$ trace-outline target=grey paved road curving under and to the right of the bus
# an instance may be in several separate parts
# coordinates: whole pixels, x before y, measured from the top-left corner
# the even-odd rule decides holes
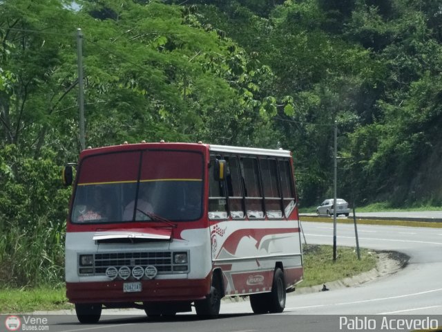
[[[332,244],[330,223],[303,222],[302,228],[307,243]],[[75,315],[50,316],[48,331],[339,331],[341,317],[348,315],[367,320],[389,317],[389,322],[391,317],[412,320],[414,315],[423,315],[417,316],[418,319],[439,315],[431,317],[436,317],[436,322],[442,326],[442,230],[359,225],[358,232],[361,246],[404,252],[410,256],[408,266],[395,275],[357,287],[311,294],[291,293],[287,297],[286,311],[280,315],[253,315],[249,302],[224,302],[217,320],[177,315],[174,320],[151,322],[142,311],[119,311],[119,315],[106,315],[104,311],[102,320],[94,326],[77,323]],[[354,246],[353,225],[338,223],[337,234],[338,246]],[[128,316],[123,317],[122,313]],[[374,331],[386,331],[379,329],[379,324]]]

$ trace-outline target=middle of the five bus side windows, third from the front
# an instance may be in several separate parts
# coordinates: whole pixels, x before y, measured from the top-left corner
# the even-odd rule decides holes
[[[264,218],[258,160],[242,158],[241,161],[244,170],[247,216],[251,219]]]

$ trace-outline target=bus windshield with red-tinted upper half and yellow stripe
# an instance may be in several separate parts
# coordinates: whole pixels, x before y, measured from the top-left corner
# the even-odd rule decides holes
[[[202,154],[147,150],[81,160],[73,223],[193,221],[202,216]]]

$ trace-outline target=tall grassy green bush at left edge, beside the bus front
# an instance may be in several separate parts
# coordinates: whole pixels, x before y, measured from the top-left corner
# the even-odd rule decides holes
[[[15,145],[0,151],[0,287],[60,283],[70,188],[55,154],[38,159]]]

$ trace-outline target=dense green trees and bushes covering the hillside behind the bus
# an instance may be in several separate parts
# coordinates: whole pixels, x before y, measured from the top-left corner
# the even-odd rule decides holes
[[[336,121],[339,196],[442,205],[440,1],[4,0],[0,284],[62,280],[77,28],[86,145],[290,149],[311,206],[332,195]]]

